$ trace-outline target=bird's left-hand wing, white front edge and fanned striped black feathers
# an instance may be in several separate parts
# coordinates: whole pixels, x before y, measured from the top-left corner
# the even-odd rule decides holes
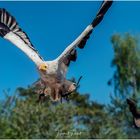
[[[27,34],[5,9],[0,9],[0,36],[21,49],[37,66],[42,63],[43,59],[33,47]]]

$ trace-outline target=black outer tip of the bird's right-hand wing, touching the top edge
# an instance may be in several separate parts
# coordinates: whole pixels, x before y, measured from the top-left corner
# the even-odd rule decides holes
[[[96,15],[96,18],[92,21],[91,25],[93,27],[97,26],[103,19],[105,13],[108,11],[108,9],[111,7],[113,1],[112,0],[105,0],[102,2],[102,5],[99,9],[99,12]]]

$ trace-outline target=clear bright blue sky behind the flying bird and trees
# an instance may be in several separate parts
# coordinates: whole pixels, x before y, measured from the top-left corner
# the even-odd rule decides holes
[[[101,1],[90,2],[0,2],[28,34],[35,48],[46,60],[56,58],[92,21]],[[140,2],[115,1],[96,27],[78,59],[72,63],[67,77],[78,79],[80,92],[91,99],[108,103],[113,89],[107,81],[113,75],[113,49],[110,38],[114,33],[140,32]],[[39,77],[36,67],[18,48],[0,39],[0,93],[19,86],[27,87]]]

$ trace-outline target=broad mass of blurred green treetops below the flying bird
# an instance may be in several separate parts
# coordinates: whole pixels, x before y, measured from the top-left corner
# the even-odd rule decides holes
[[[63,103],[48,98],[38,103],[37,98],[31,87],[6,98],[0,138],[97,138],[104,105],[90,101],[88,94],[73,93]]]

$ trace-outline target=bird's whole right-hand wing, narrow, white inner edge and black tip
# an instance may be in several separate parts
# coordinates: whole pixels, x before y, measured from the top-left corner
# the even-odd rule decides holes
[[[86,29],[80,34],[79,37],[75,41],[73,41],[57,58],[59,63],[61,64],[61,69],[63,69],[63,74],[65,75],[67,71],[67,67],[69,66],[71,61],[76,61],[77,52],[76,47],[83,49],[87,40],[89,39],[93,28],[95,28],[103,19],[105,13],[112,5],[112,1],[103,1],[102,5],[97,13],[95,19],[92,21],[90,25],[86,27]]]

